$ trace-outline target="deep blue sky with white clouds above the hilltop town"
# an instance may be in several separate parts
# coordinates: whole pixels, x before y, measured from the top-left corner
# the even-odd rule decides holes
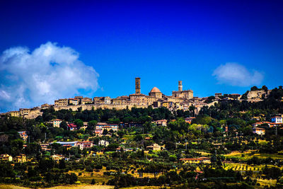
[[[0,52],[11,52],[0,58],[0,112],[39,105],[46,96],[50,103],[51,98],[76,94],[115,98],[134,93],[136,76],[141,77],[142,93],[156,86],[166,95],[178,89],[178,80],[194,96],[280,86],[282,8],[283,1],[0,1]],[[20,47],[30,50],[21,56],[36,64],[24,61],[18,67],[23,57],[14,52]],[[87,84],[69,82],[61,91],[50,86],[46,93],[36,92],[30,71],[41,70],[44,60],[33,51],[48,48],[57,54],[45,67],[48,71],[39,74],[40,84],[51,73],[70,68],[88,71],[62,76],[60,84],[71,79]],[[59,52],[76,58],[71,64],[58,63]],[[45,85],[57,81],[48,79]],[[22,100],[11,105],[15,98]]]

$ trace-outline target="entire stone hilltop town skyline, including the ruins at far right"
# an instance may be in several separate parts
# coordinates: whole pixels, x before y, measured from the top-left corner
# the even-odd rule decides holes
[[[163,94],[156,86],[149,91],[149,95],[141,93],[141,79],[135,79],[135,93],[129,96],[118,96],[117,98],[110,98],[109,96],[103,97],[83,97],[75,96],[74,98],[62,98],[54,101],[54,104],[42,104],[40,107],[35,108],[20,108],[18,111],[10,111],[8,114],[16,117],[23,117],[34,119],[38,115],[42,115],[42,109],[53,107],[54,110],[96,110],[112,109],[122,110],[125,108],[147,108],[151,105],[153,108],[168,108],[168,110],[189,110],[194,107],[195,114],[198,114],[202,107],[214,105],[218,101],[250,101],[258,102],[263,101],[270,93],[266,88],[255,88],[254,90],[247,91],[243,95],[238,93],[223,94],[215,93],[214,96],[199,98],[193,96],[192,90],[183,90],[183,82],[178,81],[178,91],[172,91],[171,96]]]

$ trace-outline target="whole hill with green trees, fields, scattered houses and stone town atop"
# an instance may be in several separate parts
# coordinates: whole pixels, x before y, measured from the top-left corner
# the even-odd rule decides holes
[[[243,95],[154,87],[58,99],[0,117],[0,182],[172,188],[282,187],[283,88]],[[220,182],[219,182],[220,181]]]

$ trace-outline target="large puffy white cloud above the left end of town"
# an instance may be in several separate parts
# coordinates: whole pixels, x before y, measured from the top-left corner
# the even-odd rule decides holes
[[[0,56],[0,112],[54,103],[57,98],[93,93],[98,73],[70,47],[47,42],[30,52],[12,47]]]

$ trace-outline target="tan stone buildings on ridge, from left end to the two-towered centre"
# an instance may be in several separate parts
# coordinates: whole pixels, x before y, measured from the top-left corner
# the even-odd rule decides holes
[[[75,96],[74,98],[61,98],[54,101],[54,105],[42,104],[35,108],[21,108],[18,111],[11,111],[9,114],[15,117],[36,118],[42,115],[40,109],[54,108],[69,109],[71,106],[79,108],[79,106],[88,105],[96,108],[96,106],[103,105],[103,108],[126,108],[127,105],[138,105],[146,108],[151,105],[154,108],[165,107],[168,109],[183,109],[192,105],[189,101],[193,99],[193,91],[183,91],[182,81],[178,81],[178,91],[172,91],[172,96],[166,96],[157,88],[154,87],[149,91],[149,95],[141,93],[140,78],[135,79],[135,93],[129,96],[118,96],[117,98],[110,98],[109,96],[88,98],[83,96]],[[196,98],[194,101],[197,100]],[[112,105],[112,106],[111,106]],[[74,108],[76,110],[76,108]]]

